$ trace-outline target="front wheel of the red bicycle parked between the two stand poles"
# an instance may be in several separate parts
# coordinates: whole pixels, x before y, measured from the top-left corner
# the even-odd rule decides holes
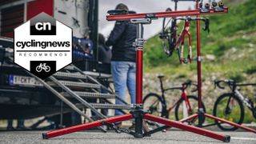
[[[181,98],[175,107],[175,118],[177,121],[181,120],[182,118],[189,117],[190,115],[198,112],[198,97],[194,95],[188,95],[187,98],[188,101],[190,102],[191,111],[188,112],[186,101],[184,98]],[[202,108],[203,111],[206,112],[206,106],[204,105],[204,103],[202,103]],[[204,121],[205,119],[203,119],[202,122]],[[198,125],[198,119],[196,119],[193,123],[194,125]]]

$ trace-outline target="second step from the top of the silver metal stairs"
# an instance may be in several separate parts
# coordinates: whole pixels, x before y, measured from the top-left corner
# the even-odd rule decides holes
[[[98,84],[91,84],[86,82],[70,82],[70,81],[58,81],[61,82],[65,86],[71,86],[71,87],[85,87],[85,88],[95,88],[100,89],[101,86]]]

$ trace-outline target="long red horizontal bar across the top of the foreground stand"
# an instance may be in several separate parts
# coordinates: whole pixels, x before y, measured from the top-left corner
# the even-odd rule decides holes
[[[200,10],[179,10],[179,11],[166,11],[158,13],[144,13],[144,14],[119,14],[119,15],[107,15],[106,20],[108,21],[126,21],[131,18],[148,18],[154,16],[154,18],[167,18],[167,17],[182,17],[182,16],[196,16],[206,14],[222,14],[227,13],[228,8],[225,8],[223,12],[214,12],[210,9],[210,13],[200,13]]]

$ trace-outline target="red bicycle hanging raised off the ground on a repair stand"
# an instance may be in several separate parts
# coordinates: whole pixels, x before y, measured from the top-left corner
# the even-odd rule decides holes
[[[172,11],[170,8],[167,8],[166,11]],[[177,35],[178,32],[178,25],[177,21],[182,20],[184,21],[184,26],[179,34]],[[166,22],[166,18],[163,18],[162,22],[162,32],[159,34],[159,38],[162,39],[162,46],[163,50],[165,51],[166,55],[170,57],[174,50],[177,50],[178,52],[178,58],[181,63],[188,63],[192,62],[192,46],[191,46],[191,34],[190,34],[190,22],[191,21],[203,21],[205,22],[205,27],[203,30],[210,32],[210,20],[209,18],[191,18],[191,17],[186,17],[186,18],[170,18]],[[169,26],[169,23],[171,22],[171,26]],[[189,50],[188,50],[188,55],[187,58],[183,58],[183,53],[184,53],[184,42],[186,35],[188,36],[188,43],[189,43]],[[181,50],[179,50],[178,47],[181,46]]]

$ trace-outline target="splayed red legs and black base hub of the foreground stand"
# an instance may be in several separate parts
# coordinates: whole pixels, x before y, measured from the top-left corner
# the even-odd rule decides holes
[[[181,122],[175,122],[175,121],[168,120],[166,118],[156,117],[151,114],[145,114],[142,110],[139,110],[139,109],[138,109],[138,111],[134,110],[131,113],[133,113],[133,114],[125,114],[125,115],[121,115],[121,116],[114,117],[114,118],[106,118],[106,119],[102,119],[102,120],[99,120],[96,122],[90,122],[90,123],[86,123],[86,124],[82,124],[82,125],[78,125],[78,126],[71,126],[71,127],[60,129],[60,130],[50,131],[46,134],[42,134],[42,137],[44,139],[54,138],[54,137],[58,137],[58,136],[64,135],[64,134],[70,134],[70,133],[74,133],[77,131],[88,130],[90,128],[102,126],[104,124],[104,122],[106,122],[106,123],[122,122],[122,121],[130,120],[135,117],[135,122],[138,122],[138,124],[139,123],[142,124],[142,118],[146,118],[147,120],[150,120],[150,121],[159,122],[166,126],[176,127],[178,129],[193,132],[195,134],[201,134],[206,137],[218,139],[222,142],[230,142],[230,136],[224,136],[222,134],[214,133],[210,130],[204,130],[204,129],[201,129],[201,128],[198,128],[195,126],[183,124]],[[137,116],[135,116],[135,115],[137,115]],[[137,120],[136,120],[136,118],[137,118]],[[137,126],[137,128],[135,127],[135,132],[129,132],[130,134],[134,135],[135,138],[142,138],[143,136],[146,136],[148,134],[153,134],[151,132],[148,132],[148,134],[147,133],[142,134],[142,125],[139,126],[139,125],[135,124],[135,126]],[[120,131],[124,132],[122,130],[120,130]],[[159,130],[159,131],[161,131],[161,130]],[[155,132],[158,132],[158,131],[155,131]],[[126,132],[126,133],[128,134],[128,132]]]

